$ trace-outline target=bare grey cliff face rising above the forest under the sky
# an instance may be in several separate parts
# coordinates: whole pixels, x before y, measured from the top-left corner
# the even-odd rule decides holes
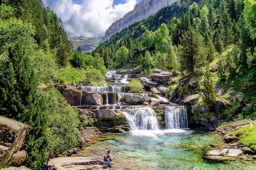
[[[124,18],[117,20],[108,28],[100,44],[108,40],[115,33],[128,27],[130,24],[148,18],[150,15],[155,14],[163,7],[171,5],[176,1],[177,0],[141,0],[139,4],[135,5],[132,11],[124,15]]]

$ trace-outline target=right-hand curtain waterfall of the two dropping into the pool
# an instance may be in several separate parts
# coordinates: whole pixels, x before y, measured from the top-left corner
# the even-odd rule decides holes
[[[165,124],[168,129],[188,128],[186,107],[168,106],[164,108]]]

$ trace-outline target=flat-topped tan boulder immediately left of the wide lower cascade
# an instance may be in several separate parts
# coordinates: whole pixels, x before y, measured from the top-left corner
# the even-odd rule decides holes
[[[120,113],[115,112],[115,110],[111,109],[103,109],[103,110],[92,110],[95,113],[96,117],[101,120],[115,120],[119,119],[121,116]]]

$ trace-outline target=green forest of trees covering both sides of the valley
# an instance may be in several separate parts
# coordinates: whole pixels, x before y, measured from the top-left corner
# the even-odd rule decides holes
[[[55,83],[102,84],[107,68],[143,67],[144,76],[154,68],[174,69],[193,76],[206,67],[204,102],[211,103],[215,96],[207,65],[213,60],[218,59],[223,84],[236,83],[241,69],[255,72],[254,0],[198,0],[184,8],[182,1],[130,25],[90,54],[73,51],[63,22],[41,0],[0,1],[0,115],[32,127],[24,145],[27,167],[39,170],[46,152],[79,142],[78,110],[67,105]],[[255,117],[254,95],[250,102],[245,113]]]

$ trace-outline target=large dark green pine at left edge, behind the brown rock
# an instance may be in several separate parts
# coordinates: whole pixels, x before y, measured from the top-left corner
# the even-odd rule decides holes
[[[47,121],[24,40],[19,39],[15,48],[9,49],[7,60],[1,63],[0,75],[0,115],[31,126],[26,163],[32,169],[40,170],[45,161]]]

